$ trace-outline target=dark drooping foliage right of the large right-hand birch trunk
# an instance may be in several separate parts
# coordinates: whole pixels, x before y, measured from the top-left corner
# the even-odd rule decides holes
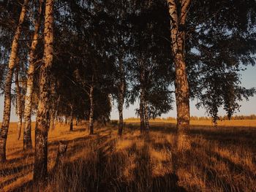
[[[255,1],[193,1],[187,26],[190,95],[214,123],[222,107],[230,118],[238,101],[255,94],[239,72],[255,65]]]

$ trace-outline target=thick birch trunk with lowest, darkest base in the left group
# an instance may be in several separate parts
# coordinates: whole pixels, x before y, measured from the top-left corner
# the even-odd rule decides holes
[[[40,68],[40,93],[35,130],[34,180],[47,176],[50,68],[53,63],[53,0],[45,2],[44,57]]]

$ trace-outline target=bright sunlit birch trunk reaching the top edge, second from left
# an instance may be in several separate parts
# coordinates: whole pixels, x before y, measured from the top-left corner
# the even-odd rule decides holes
[[[32,148],[31,139],[31,108],[32,108],[32,96],[34,92],[34,58],[35,51],[37,48],[39,28],[42,17],[42,4],[43,0],[39,1],[39,8],[37,14],[37,20],[34,21],[34,35],[31,42],[30,53],[29,53],[29,70],[28,80],[26,83],[26,98],[25,98],[25,110],[24,110],[24,130],[23,130],[23,150],[29,150]]]

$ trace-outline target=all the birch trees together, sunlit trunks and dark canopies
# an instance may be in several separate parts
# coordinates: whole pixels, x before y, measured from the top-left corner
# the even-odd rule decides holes
[[[254,0],[0,5],[0,161],[6,160],[12,102],[18,138],[24,119],[24,150],[32,148],[31,115],[37,115],[36,180],[47,174],[48,130],[58,118],[69,118],[71,131],[74,118],[89,120],[94,134],[94,121],[109,120],[114,100],[121,135],[124,107],[139,101],[140,130],[146,133],[149,118],[172,110],[175,93],[178,137],[188,138],[189,99],[197,99],[216,122],[220,107],[230,118],[238,101],[255,93],[239,81],[239,71],[255,65]]]

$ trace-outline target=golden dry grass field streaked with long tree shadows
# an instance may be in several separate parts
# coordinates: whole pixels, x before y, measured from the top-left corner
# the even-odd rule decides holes
[[[198,121],[192,122],[192,147],[182,153],[173,147],[170,121],[151,121],[148,137],[140,135],[138,122],[126,122],[121,138],[113,124],[95,128],[93,136],[84,124],[72,132],[59,124],[49,131],[49,176],[41,185],[32,182],[33,151],[23,152],[11,123],[0,191],[256,191],[256,120],[218,128]],[[68,142],[67,153],[53,172],[59,141]]]

